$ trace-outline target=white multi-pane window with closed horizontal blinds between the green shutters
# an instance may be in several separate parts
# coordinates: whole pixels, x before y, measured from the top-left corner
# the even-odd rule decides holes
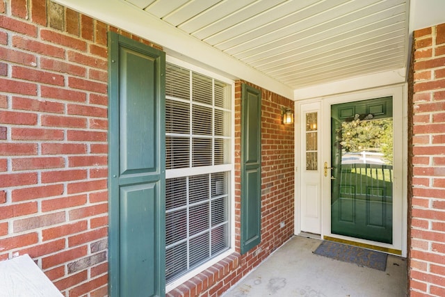
[[[165,67],[168,284],[232,245],[232,88],[208,73]]]

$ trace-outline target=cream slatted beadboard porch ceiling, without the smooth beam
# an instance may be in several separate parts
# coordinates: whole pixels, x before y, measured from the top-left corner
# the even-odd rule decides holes
[[[406,67],[409,0],[124,0],[292,89]]]

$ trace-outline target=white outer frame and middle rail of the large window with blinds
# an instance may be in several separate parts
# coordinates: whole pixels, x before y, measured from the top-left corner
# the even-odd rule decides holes
[[[182,275],[180,278],[177,278],[176,280],[173,280],[172,282],[166,284],[165,286],[165,292],[168,293],[172,289],[175,289],[180,284],[183,284],[187,280],[193,278],[193,276],[197,275],[198,273],[201,273],[202,271],[206,270],[210,266],[213,266],[220,260],[224,259],[225,257],[231,255],[235,251],[235,166],[234,166],[234,160],[235,160],[235,82],[232,79],[227,79],[226,77],[223,77],[219,74],[216,74],[214,72],[211,72],[209,70],[205,70],[201,67],[197,67],[196,65],[193,65],[191,63],[187,63],[185,61],[181,61],[178,58],[175,58],[173,56],[167,55],[165,57],[165,61],[167,63],[171,63],[174,65],[177,65],[179,67],[184,67],[187,70],[191,70],[193,72],[196,72],[198,74],[203,74],[207,77],[211,77],[212,79],[216,79],[218,81],[223,81],[224,83],[227,83],[231,86],[230,90],[230,111],[232,113],[231,122],[230,122],[230,133],[231,133],[231,142],[230,142],[230,152],[229,152],[229,163],[218,165],[218,166],[200,166],[195,168],[177,168],[177,169],[168,169],[165,170],[165,179],[171,179],[175,177],[186,177],[186,176],[192,176],[192,175],[202,175],[202,174],[209,174],[213,172],[229,172],[229,249],[225,252],[221,253],[217,257],[214,257],[212,259],[209,259],[209,261],[205,262],[204,264],[197,266],[196,268],[191,269],[191,271],[188,271],[184,275]],[[184,174],[186,172],[186,174]]]

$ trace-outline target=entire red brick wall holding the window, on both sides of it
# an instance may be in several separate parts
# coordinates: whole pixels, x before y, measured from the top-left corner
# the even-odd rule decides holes
[[[28,253],[65,296],[106,296],[107,32],[161,47],[45,0],[0,0],[0,27],[0,260]],[[294,134],[280,119],[293,102],[262,95],[261,244],[237,253],[237,82],[237,252],[174,296],[219,296],[293,234]]]

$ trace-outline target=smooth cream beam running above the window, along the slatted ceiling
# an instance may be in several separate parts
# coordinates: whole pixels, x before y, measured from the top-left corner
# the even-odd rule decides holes
[[[293,99],[293,89],[121,0],[54,0],[84,15],[161,45],[167,54],[229,79],[243,79]],[[172,3],[177,1],[172,1]]]

